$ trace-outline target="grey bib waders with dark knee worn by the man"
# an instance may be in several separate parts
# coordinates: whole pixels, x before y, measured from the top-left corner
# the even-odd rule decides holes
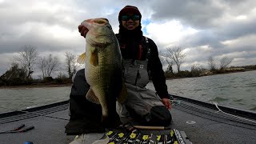
[[[170,111],[154,90],[145,87],[149,82],[147,62],[122,60],[128,98],[123,104],[118,104],[118,114],[120,117],[130,115],[143,125],[167,126],[171,121]]]

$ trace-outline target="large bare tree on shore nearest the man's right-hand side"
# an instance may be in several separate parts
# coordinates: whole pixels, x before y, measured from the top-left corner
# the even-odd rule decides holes
[[[177,66],[178,72],[180,72],[180,67],[182,66],[182,63],[186,58],[186,54],[182,52],[182,48],[178,46],[175,46],[173,48],[167,48],[166,57],[174,61]]]

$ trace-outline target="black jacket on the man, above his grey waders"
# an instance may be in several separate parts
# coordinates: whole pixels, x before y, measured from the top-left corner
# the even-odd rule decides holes
[[[148,59],[148,70],[154,88],[160,98],[168,98],[166,78],[162,70],[162,63],[158,57],[158,47],[150,38],[142,35],[141,25],[135,30],[126,30],[122,24],[119,26],[119,34],[116,34],[124,59],[146,60]],[[150,52],[148,53],[148,50]]]

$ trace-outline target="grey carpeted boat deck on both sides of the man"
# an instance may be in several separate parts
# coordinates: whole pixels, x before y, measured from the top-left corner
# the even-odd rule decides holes
[[[176,97],[177,98],[177,97]],[[209,105],[209,106],[207,106]],[[248,111],[234,110],[238,114],[246,114],[242,119],[217,112],[217,108],[209,103],[182,99],[174,105],[171,114],[171,129],[184,131],[193,143],[256,143],[256,114]],[[210,107],[212,106],[212,107]],[[219,106],[225,110],[225,107]],[[74,136],[64,133],[68,122],[68,102],[59,102],[27,110],[0,114],[0,131],[11,130],[21,124],[34,126],[33,130],[23,133],[0,134],[0,143],[62,144],[73,141]],[[232,111],[231,111],[232,112]],[[248,120],[247,120],[248,119]]]

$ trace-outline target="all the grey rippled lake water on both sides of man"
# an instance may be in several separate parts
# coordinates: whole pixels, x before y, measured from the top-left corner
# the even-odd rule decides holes
[[[256,111],[256,71],[167,80],[170,94]],[[154,90],[150,82],[147,86]],[[0,113],[69,99],[70,86],[0,89]]]

